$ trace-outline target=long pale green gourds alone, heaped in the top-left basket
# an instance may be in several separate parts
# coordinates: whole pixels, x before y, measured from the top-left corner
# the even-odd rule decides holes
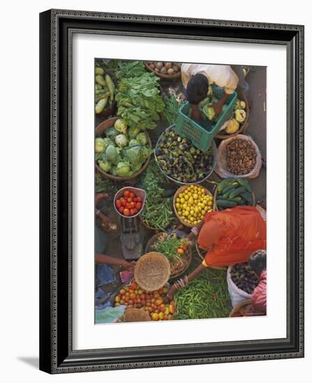
[[[115,100],[115,84],[100,67],[95,67],[95,113],[100,114]]]

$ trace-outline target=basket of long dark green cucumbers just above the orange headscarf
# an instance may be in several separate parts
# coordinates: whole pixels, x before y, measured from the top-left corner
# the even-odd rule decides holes
[[[255,195],[246,178],[226,178],[214,190],[214,210],[221,211],[235,206],[255,204]]]

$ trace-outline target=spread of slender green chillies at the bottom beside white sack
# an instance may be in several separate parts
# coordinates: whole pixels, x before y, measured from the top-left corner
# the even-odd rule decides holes
[[[226,272],[208,271],[174,295],[175,319],[225,318],[230,313]]]

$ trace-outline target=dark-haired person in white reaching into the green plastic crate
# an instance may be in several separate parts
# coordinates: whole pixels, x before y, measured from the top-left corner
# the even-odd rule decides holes
[[[239,81],[230,65],[182,64],[181,77],[187,100],[192,107],[192,118],[197,123],[201,121],[198,103],[207,97],[209,85],[216,84],[224,88],[224,95],[213,105],[214,118],[217,118],[224,102],[235,91]]]

